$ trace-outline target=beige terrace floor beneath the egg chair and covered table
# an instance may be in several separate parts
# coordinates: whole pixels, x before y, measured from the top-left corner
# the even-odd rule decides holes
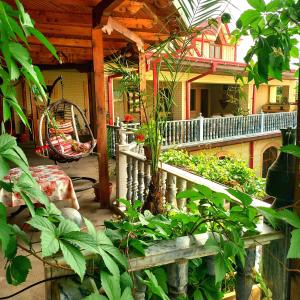
[[[42,165],[42,164],[53,164],[52,161],[40,158],[37,155],[35,155],[33,148],[31,145],[26,145],[23,147],[24,151],[29,159],[30,165]],[[114,161],[111,161],[110,163],[111,168],[114,167]],[[70,164],[61,164],[61,168],[69,175],[69,176],[88,176],[93,177],[98,180],[98,161],[96,156],[89,156],[86,158],[83,158],[79,160],[78,162],[73,162]],[[114,181],[114,180],[113,180]],[[115,194],[115,187],[113,184],[113,192],[112,192],[112,198]],[[84,216],[90,219],[95,226],[98,228],[101,228],[103,225],[103,221],[106,219],[110,219],[112,216],[112,213],[110,210],[103,210],[100,209],[99,203],[95,202],[95,196],[93,190],[88,190],[85,192],[81,192],[77,194],[78,201],[80,204],[80,213]],[[62,206],[68,206],[68,203],[59,203],[59,207]],[[9,212],[10,213],[10,212]],[[26,221],[26,218],[28,217],[28,212],[24,211],[14,219],[10,220],[10,222],[15,222],[19,225],[24,223]],[[32,236],[33,241],[39,241],[39,236],[37,233],[29,233]],[[36,245],[38,247],[38,244]],[[20,252],[21,254],[21,252]],[[23,254],[23,253],[22,253]],[[25,254],[26,255],[26,254]],[[22,284],[20,286],[14,287],[7,285],[6,279],[5,279],[5,272],[4,272],[4,265],[5,261],[1,257],[0,254],[0,298],[4,296],[11,295],[39,280],[44,279],[44,267],[43,263],[40,262],[37,259],[32,259],[32,270],[28,276],[28,280],[26,281],[26,284]],[[26,292],[19,294],[17,296],[14,296],[10,299],[13,300],[44,300],[45,299],[45,285],[40,284],[37,285]]]

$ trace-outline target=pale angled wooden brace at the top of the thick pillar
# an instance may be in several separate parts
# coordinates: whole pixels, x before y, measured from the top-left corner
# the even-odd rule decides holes
[[[140,52],[144,52],[143,40],[137,34],[124,27],[112,17],[108,17],[107,24],[102,27],[102,31],[107,33],[108,35],[111,35],[113,31],[117,31],[122,34],[124,38],[136,43],[137,48]]]

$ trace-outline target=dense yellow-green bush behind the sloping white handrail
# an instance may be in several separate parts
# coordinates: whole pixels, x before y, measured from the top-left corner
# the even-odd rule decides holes
[[[257,198],[265,196],[265,181],[258,177],[246,163],[237,158],[219,159],[208,154],[189,155],[180,150],[168,150],[161,154],[165,163],[184,168],[206,179],[231,186]]]

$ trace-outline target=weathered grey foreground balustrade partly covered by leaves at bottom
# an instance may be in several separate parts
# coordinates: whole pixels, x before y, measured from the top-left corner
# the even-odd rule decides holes
[[[281,239],[282,233],[272,230],[267,225],[259,228],[259,234],[244,238],[245,248],[253,248],[255,245],[267,245],[273,240]],[[194,236],[178,237],[175,240],[159,241],[145,250],[145,256],[132,257],[129,254],[129,266],[131,272],[140,275],[140,271],[157,266],[167,266],[167,276],[169,283],[170,299],[177,299],[178,296],[186,296],[188,282],[188,261],[195,258],[211,257],[216,254],[213,248],[205,247],[205,243],[209,238],[208,234],[197,234]],[[93,259],[90,253],[85,253],[86,257]],[[52,261],[50,261],[52,262]],[[65,265],[62,257],[56,258],[52,263]],[[58,270],[45,265],[46,278],[66,274],[65,270]],[[243,274],[244,271],[237,270],[237,276]],[[67,271],[67,273],[70,273]],[[67,289],[65,282],[48,282],[46,286],[46,294],[48,300],[58,300],[53,295],[57,295],[57,289]],[[146,287],[135,276],[136,284],[136,300],[145,299]],[[248,284],[249,286],[249,284]],[[251,291],[251,285],[249,286]],[[243,291],[237,289],[237,299],[242,298]],[[52,296],[51,296],[52,295]]]

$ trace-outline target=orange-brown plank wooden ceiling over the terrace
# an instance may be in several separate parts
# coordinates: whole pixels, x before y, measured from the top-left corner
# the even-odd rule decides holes
[[[7,2],[14,6],[14,0]],[[166,19],[177,15],[171,0],[22,0],[22,3],[35,26],[56,47],[64,64],[92,61],[92,28],[103,27],[109,17],[132,31],[147,48],[169,36],[172,28]],[[105,56],[133,43],[115,30],[103,38]],[[35,64],[58,64],[37,39],[30,37],[29,41]]]

